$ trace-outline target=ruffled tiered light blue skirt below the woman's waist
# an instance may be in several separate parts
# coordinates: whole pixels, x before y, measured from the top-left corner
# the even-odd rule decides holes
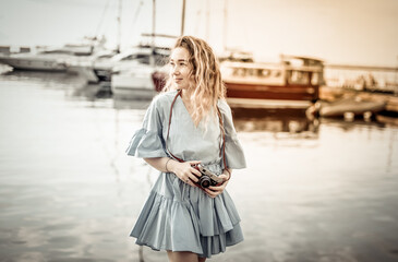
[[[161,172],[130,236],[157,251],[191,251],[210,258],[243,241],[239,223],[227,191],[212,199],[176,175]]]

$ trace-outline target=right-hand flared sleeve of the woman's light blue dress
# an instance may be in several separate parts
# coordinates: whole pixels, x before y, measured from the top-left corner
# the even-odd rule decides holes
[[[220,109],[224,129],[226,132],[226,163],[227,167],[232,169],[241,169],[246,167],[246,159],[244,157],[243,148],[238,140],[237,131],[233,127],[231,108],[226,100],[218,102]]]

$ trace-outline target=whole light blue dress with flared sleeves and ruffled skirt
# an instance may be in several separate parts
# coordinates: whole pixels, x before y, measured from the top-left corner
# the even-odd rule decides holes
[[[170,106],[177,92],[157,95],[146,111],[143,127],[131,139],[129,155],[170,157],[165,148]],[[246,166],[232,122],[231,109],[218,102],[226,132],[226,163],[229,168]],[[206,126],[206,127],[205,127]],[[184,160],[202,160],[216,175],[224,169],[219,121],[201,121],[196,128],[179,96],[172,108],[168,150]],[[233,178],[233,177],[232,177]],[[243,240],[240,217],[225,190],[215,199],[181,181],[172,172],[160,172],[130,236],[154,250],[191,251],[200,257],[224,252]]]

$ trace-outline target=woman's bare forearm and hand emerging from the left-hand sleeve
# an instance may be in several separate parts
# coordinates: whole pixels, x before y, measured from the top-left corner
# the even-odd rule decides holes
[[[176,174],[179,179],[192,187],[196,187],[192,181],[197,182],[197,177],[202,176],[198,170],[192,167],[192,165],[200,164],[201,162],[180,163],[169,157],[144,158],[144,160],[159,171]]]

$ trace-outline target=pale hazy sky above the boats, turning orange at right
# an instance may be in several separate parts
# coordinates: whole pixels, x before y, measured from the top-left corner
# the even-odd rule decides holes
[[[121,3],[125,48],[152,33],[153,0]],[[116,46],[118,7],[118,0],[0,0],[0,45],[63,45],[104,34]],[[156,0],[156,33],[180,35],[181,13],[182,0]],[[397,67],[397,0],[186,0],[184,34],[217,52],[251,51],[258,61],[288,53]]]

